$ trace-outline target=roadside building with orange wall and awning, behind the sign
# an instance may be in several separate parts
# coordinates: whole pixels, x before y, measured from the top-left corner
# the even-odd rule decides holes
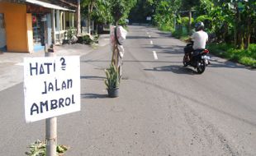
[[[0,1],[0,51],[37,52],[45,44],[62,44],[68,38],[68,31],[75,32],[75,4],[53,2]]]

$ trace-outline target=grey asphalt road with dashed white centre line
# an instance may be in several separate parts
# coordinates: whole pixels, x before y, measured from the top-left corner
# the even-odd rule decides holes
[[[116,99],[103,82],[109,46],[81,57],[81,111],[58,117],[66,155],[256,155],[256,71],[212,57],[197,75],[183,67],[184,45],[130,26]],[[0,155],[24,155],[45,122],[26,124],[22,83],[0,99]]]

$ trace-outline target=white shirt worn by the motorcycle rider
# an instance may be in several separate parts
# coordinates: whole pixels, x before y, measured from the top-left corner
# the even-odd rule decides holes
[[[194,41],[193,49],[206,48],[206,41],[208,40],[208,34],[205,31],[199,30],[194,34],[192,34],[191,38]]]

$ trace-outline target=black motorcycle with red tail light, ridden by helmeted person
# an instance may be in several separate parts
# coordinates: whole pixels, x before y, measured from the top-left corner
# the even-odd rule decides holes
[[[206,66],[210,64],[210,57],[207,55],[209,53],[208,49],[197,49],[193,50],[191,44],[187,44],[184,48],[183,65],[187,67],[188,65],[197,69],[197,73],[201,74],[206,70]]]

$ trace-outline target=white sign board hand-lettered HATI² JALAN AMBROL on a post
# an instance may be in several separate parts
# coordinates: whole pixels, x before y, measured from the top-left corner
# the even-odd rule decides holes
[[[24,58],[24,94],[26,122],[79,111],[79,57]]]

